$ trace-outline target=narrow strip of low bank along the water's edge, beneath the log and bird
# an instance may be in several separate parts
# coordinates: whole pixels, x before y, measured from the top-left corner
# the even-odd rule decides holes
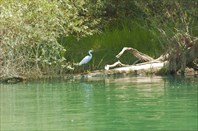
[[[43,76],[41,78],[26,78],[23,76],[13,76],[13,77],[5,77],[0,78],[0,83],[4,84],[16,84],[20,82],[28,82],[32,80],[53,80],[53,79],[62,79],[62,80],[79,80],[79,79],[104,79],[104,78],[115,78],[115,77],[154,77],[159,76],[156,74],[151,74],[148,72],[141,72],[137,74],[137,72],[115,72],[112,70],[95,70],[91,72],[84,72],[84,73],[74,73],[74,74],[64,74],[64,75],[56,75],[56,76]],[[165,75],[163,75],[165,76]],[[169,76],[169,75],[167,75]],[[173,75],[172,75],[173,76]],[[185,74],[181,75],[180,71],[177,72],[174,77],[198,77],[198,71],[194,69],[186,68]]]

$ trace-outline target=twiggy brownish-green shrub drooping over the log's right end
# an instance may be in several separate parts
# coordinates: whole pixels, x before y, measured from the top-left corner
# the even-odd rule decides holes
[[[198,1],[184,0],[149,0],[141,1],[137,5],[144,10],[149,26],[161,34],[160,42],[165,43],[169,53],[169,72],[176,73],[181,67],[184,73],[186,68],[187,52],[198,44],[197,12]]]

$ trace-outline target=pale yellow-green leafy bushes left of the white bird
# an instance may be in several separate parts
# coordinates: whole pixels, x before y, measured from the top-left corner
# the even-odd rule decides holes
[[[48,68],[51,65],[60,70],[65,49],[57,39],[97,32],[95,26],[99,20],[91,16],[85,2],[0,1],[0,75],[38,76],[51,72]],[[85,15],[80,14],[82,10]]]

